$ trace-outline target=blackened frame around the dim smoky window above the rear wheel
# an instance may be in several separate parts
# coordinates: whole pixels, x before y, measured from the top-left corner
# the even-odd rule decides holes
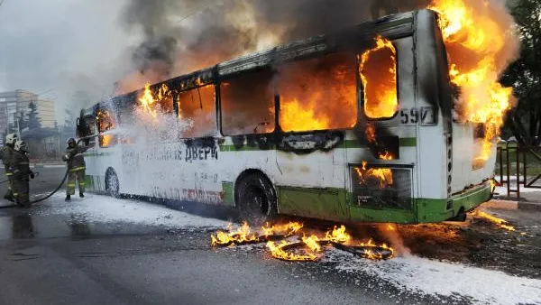
[[[250,75],[250,73],[252,72],[259,72],[259,71],[269,71],[271,73],[271,83],[270,85],[272,86],[273,88],[273,95],[272,95],[272,107],[274,108],[274,117],[273,117],[273,120],[272,120],[272,124],[274,124],[274,129],[270,132],[270,133],[246,133],[246,134],[225,134],[224,133],[224,113],[223,113],[223,110],[224,108],[222,107],[222,84],[226,81],[229,81],[229,80],[232,80],[232,79],[236,79],[236,78],[241,78],[245,75]],[[257,136],[257,135],[270,135],[270,134],[276,134],[276,133],[283,133],[281,131],[281,128],[279,127],[280,125],[278,124],[279,123],[279,118],[278,116],[280,116],[280,107],[277,107],[277,105],[280,105],[280,102],[277,101],[277,93],[276,93],[276,88],[275,86],[273,86],[272,84],[272,80],[274,79],[274,77],[276,76],[276,70],[275,69],[272,69],[271,66],[266,66],[266,67],[263,67],[263,68],[260,68],[260,69],[250,69],[250,70],[247,70],[247,71],[243,71],[243,72],[240,72],[240,73],[236,73],[236,74],[233,74],[233,75],[227,75],[225,76],[224,78],[221,78],[219,79],[218,81],[215,82],[215,87],[216,87],[216,95],[215,95],[215,99],[216,99],[216,106],[219,108],[219,111],[216,111],[216,115],[218,116],[218,120],[216,120],[217,122],[217,125],[218,125],[218,132],[220,134],[221,137],[235,137],[235,136],[242,136],[242,135],[252,135],[252,136]],[[279,97],[280,98],[280,97]],[[257,125],[257,127],[259,127],[260,125]],[[256,128],[257,128],[256,127]]]

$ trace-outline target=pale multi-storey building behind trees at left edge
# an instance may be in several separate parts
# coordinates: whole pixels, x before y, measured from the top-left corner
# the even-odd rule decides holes
[[[54,102],[40,99],[27,90],[0,92],[0,134],[18,131],[17,118],[28,118],[30,103],[37,106],[38,119],[42,128],[54,128]]]

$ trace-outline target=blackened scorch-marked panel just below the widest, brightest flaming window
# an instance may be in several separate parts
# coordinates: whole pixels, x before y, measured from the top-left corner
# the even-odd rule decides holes
[[[342,143],[344,143],[344,132],[340,131],[284,134],[278,143],[278,149],[298,154],[328,152]]]

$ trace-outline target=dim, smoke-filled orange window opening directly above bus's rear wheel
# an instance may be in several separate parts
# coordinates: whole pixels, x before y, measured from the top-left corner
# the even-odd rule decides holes
[[[220,84],[222,133],[268,134],[274,131],[271,70],[247,73]]]

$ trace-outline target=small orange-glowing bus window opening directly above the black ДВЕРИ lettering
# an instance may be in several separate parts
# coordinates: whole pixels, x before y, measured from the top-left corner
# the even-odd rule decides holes
[[[215,86],[207,85],[180,92],[177,96],[179,119],[191,125],[182,131],[183,137],[195,138],[214,135],[216,131]]]

